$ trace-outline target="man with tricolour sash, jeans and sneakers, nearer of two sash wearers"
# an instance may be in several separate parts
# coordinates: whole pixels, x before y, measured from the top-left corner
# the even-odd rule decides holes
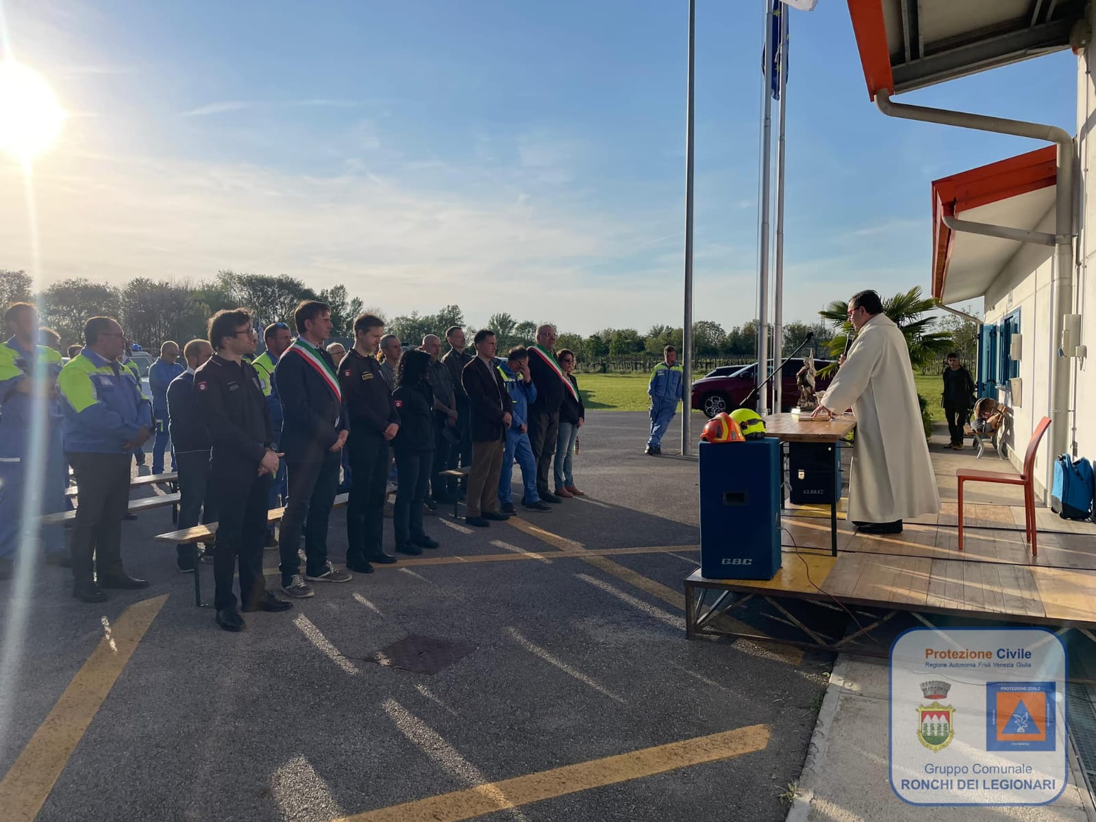
[[[350,436],[342,388],[323,342],[331,334],[331,309],[301,300],[294,312],[299,336],[277,361],[274,380],[285,416],[282,450],[289,466],[289,501],[282,517],[278,549],[282,590],[289,596],[312,596],[300,576],[300,536],[305,534],[305,579],[350,582],[328,560],[328,520],[339,488],[342,449]]]

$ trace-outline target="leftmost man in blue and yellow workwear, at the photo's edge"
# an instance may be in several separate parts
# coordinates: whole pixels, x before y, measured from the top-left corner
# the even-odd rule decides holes
[[[0,580],[12,575],[19,548],[23,502],[31,481],[31,420],[38,398],[45,392],[47,418],[42,502],[33,515],[65,510],[65,481],[68,467],[60,442],[60,408],[54,388],[60,373],[61,356],[46,345],[37,345],[38,312],[30,302],[15,302],[4,311],[4,327],[11,338],[0,344]],[[36,373],[36,369],[37,373]],[[46,556],[61,562],[64,535],[47,528]]]

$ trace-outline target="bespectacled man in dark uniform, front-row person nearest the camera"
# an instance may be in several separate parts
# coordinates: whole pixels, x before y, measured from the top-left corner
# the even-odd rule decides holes
[[[237,562],[244,610],[293,607],[269,593],[263,581],[266,500],[282,455],[273,448],[274,425],[259,374],[243,359],[259,344],[251,315],[242,308],[218,311],[209,319],[209,340],[217,353],[195,372],[194,396],[213,442],[209,476],[220,516],[214,606],[217,625],[239,631],[243,619],[232,593]]]

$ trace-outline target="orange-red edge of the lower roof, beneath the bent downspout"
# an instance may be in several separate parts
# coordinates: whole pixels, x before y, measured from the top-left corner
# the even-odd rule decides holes
[[[857,0],[849,0],[849,7]],[[944,225],[945,216],[998,203],[1038,191],[1058,182],[1058,147],[1028,151],[1006,160],[961,171],[934,180],[933,195],[933,297],[944,296],[952,232]]]

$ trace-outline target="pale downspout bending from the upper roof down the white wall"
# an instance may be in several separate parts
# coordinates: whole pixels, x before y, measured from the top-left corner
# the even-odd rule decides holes
[[[1054,456],[1072,452],[1070,443],[1070,357],[1058,355],[1062,339],[1062,317],[1073,309],[1073,189],[1076,176],[1076,148],[1064,128],[1019,119],[991,117],[969,112],[952,112],[922,105],[892,103],[886,90],[876,92],[876,106],[888,117],[938,123],[979,132],[1030,137],[1058,145],[1057,190],[1054,198],[1054,272],[1051,281],[1054,345],[1050,369],[1050,452],[1046,465],[1044,489],[1050,493]]]

